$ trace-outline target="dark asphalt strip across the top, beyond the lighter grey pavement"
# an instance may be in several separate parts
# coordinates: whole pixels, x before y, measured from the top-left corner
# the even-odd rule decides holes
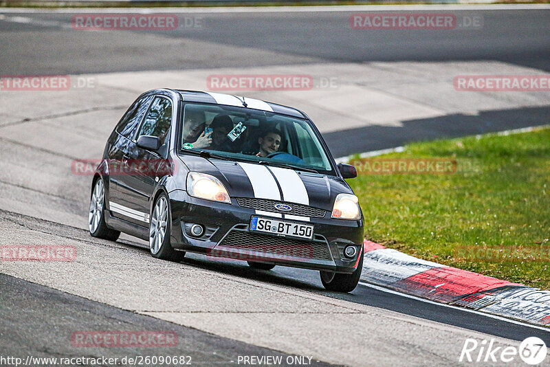
[[[430,11],[430,8],[417,9],[420,10],[416,12]],[[550,71],[550,40],[544,32],[550,26],[549,9],[485,10],[486,7],[473,6],[463,9],[470,10],[453,12],[457,19],[478,16],[483,27],[455,32],[368,32],[349,26],[349,16],[364,10],[300,12],[291,8],[283,12],[244,13],[161,10],[177,12],[179,29],[140,31],[145,36],[137,36],[135,32],[71,32],[71,16],[80,14],[78,11],[10,12],[5,17],[11,21],[0,23],[3,45],[0,65],[5,74],[83,74],[323,61],[499,60]],[[13,16],[20,18],[12,19]],[[30,44],[34,47],[28,47]]]

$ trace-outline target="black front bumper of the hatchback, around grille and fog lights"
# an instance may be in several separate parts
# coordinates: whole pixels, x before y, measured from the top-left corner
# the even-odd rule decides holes
[[[362,255],[363,221],[310,218],[314,224],[314,241],[283,236],[258,234],[248,230],[254,209],[232,203],[217,203],[190,197],[184,190],[168,194],[172,210],[170,240],[172,247],[212,257],[235,258],[306,269],[352,273]],[[284,219],[283,219],[284,220]],[[186,225],[197,223],[206,228],[205,234],[194,238],[186,233]],[[187,231],[188,232],[188,231]],[[345,258],[344,247],[354,245],[357,254]]]

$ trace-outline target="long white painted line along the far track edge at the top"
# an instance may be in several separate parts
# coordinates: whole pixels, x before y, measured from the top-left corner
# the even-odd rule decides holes
[[[273,13],[273,12],[388,12],[411,10],[550,10],[550,4],[418,4],[418,5],[318,5],[237,6],[212,8],[0,8],[4,13]]]

